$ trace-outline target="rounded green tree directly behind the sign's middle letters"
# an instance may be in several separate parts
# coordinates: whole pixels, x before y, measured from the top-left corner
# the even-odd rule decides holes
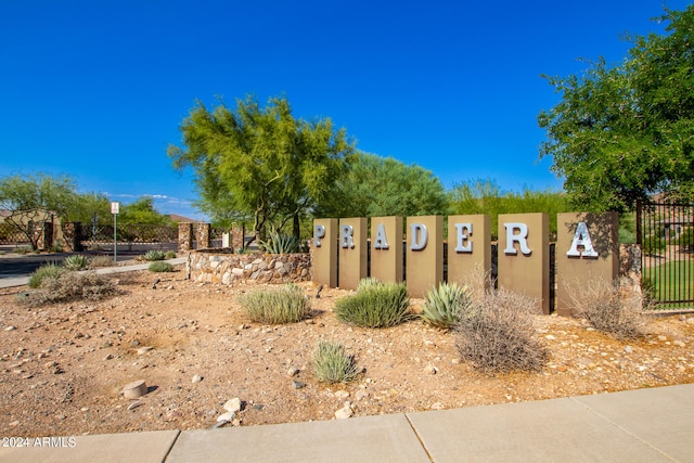
[[[358,153],[337,191],[320,205],[322,217],[424,216],[448,213],[439,179],[415,164]]]

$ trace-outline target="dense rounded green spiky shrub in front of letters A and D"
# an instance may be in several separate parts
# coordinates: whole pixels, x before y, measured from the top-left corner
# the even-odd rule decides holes
[[[361,282],[357,293],[335,303],[338,320],[365,327],[394,326],[412,317],[404,283]]]

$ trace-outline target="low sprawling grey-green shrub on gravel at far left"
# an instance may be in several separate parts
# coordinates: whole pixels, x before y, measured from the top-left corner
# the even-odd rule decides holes
[[[95,272],[63,271],[56,278],[46,278],[38,290],[23,295],[21,301],[29,306],[68,300],[100,300],[117,293],[111,280]]]

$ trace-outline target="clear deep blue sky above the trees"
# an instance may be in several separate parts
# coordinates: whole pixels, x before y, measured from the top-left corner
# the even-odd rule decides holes
[[[690,1],[667,1],[673,10]],[[166,155],[200,99],[285,94],[357,147],[445,187],[561,189],[538,160],[540,77],[618,63],[625,34],[663,31],[659,0],[0,0],[0,177],[72,177],[80,192],[198,218]]]

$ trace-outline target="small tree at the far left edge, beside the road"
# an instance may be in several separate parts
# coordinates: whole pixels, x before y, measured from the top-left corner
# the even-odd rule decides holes
[[[67,177],[10,176],[0,179],[0,209],[4,222],[22,233],[38,248],[37,227],[51,222],[53,217],[65,220],[77,200],[75,183]]]

